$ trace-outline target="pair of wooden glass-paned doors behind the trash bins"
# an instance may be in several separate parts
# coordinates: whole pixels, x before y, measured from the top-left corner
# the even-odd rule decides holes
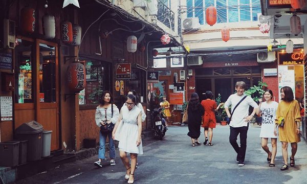
[[[18,38],[14,50],[15,128],[37,121],[52,130],[51,150],[59,149],[58,46],[40,39]]]

